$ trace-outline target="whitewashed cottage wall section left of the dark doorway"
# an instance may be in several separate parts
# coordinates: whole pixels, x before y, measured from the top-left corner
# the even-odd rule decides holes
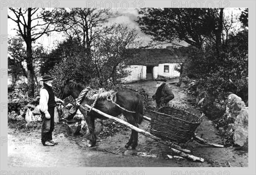
[[[125,82],[134,82],[140,79],[146,79],[146,66],[131,65],[127,70],[131,71],[130,75],[125,78]]]

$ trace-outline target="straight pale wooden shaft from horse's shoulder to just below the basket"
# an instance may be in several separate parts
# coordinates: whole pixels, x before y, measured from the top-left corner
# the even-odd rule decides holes
[[[90,107],[90,106],[87,105],[87,104],[84,104],[84,105],[85,105],[86,107],[88,107],[88,108],[94,110],[95,112],[101,114],[102,116],[105,116],[105,117],[107,117],[108,119],[112,119],[112,120],[114,120],[114,121],[116,121],[116,122],[119,122],[119,123],[121,123],[121,124],[124,124],[124,125],[130,127],[132,130],[135,130],[135,131],[137,131],[138,133],[141,133],[141,134],[143,134],[143,135],[145,135],[145,136],[147,136],[147,137],[149,137],[149,138],[152,138],[152,139],[154,139],[155,141],[158,141],[158,142],[161,143],[161,144],[165,144],[165,145],[167,145],[167,146],[172,146],[173,148],[175,148],[175,149],[177,149],[177,150],[180,150],[180,151],[183,151],[183,152],[187,152],[187,153],[191,152],[191,150],[183,149],[183,148],[181,148],[180,146],[178,146],[177,144],[174,144],[174,143],[172,143],[172,142],[170,142],[170,141],[164,141],[164,140],[162,140],[161,138],[158,138],[158,137],[152,135],[151,133],[149,133],[149,132],[147,132],[147,131],[145,131],[145,130],[142,130],[142,129],[138,128],[138,127],[135,127],[134,125],[129,124],[129,123],[126,122],[126,121],[123,121],[123,120],[118,119],[118,118],[116,118],[116,117],[110,116],[110,115],[108,115],[108,114],[106,114],[106,113],[103,113],[102,111],[97,110],[97,109],[95,109],[94,107]]]

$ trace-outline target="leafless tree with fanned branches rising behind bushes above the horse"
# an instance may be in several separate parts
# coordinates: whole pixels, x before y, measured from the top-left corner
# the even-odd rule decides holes
[[[76,37],[81,45],[87,49],[90,57],[92,43],[104,37],[111,30],[105,24],[115,14],[109,9],[71,8],[65,11],[69,23],[62,23],[69,37]]]

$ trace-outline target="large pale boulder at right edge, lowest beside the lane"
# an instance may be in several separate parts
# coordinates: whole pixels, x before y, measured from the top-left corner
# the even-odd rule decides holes
[[[239,112],[234,123],[233,141],[241,147],[248,146],[248,107]]]

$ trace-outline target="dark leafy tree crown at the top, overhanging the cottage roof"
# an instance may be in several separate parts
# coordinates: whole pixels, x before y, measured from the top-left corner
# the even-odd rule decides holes
[[[137,23],[154,41],[172,43],[178,39],[201,49],[209,37],[215,37],[221,30],[220,11],[218,8],[140,8],[138,12],[142,16]]]

